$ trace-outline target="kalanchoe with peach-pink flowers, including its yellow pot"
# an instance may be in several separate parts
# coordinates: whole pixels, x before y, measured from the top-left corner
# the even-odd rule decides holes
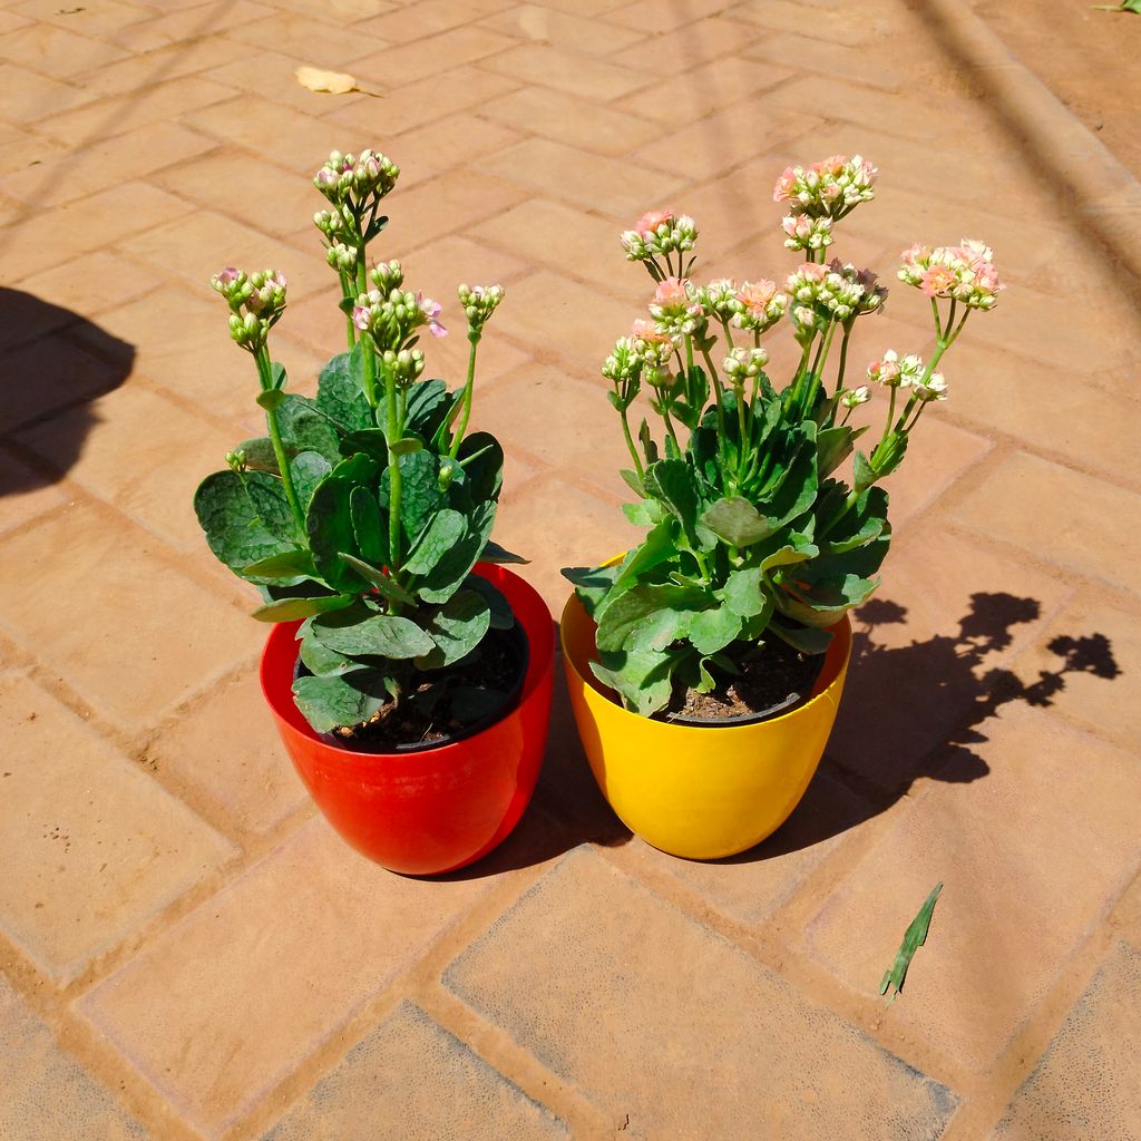
[[[790,211],[785,245],[807,260],[783,288],[694,282],[687,216],[647,213],[622,235],[656,292],[602,374],[638,496],[625,512],[648,531],[623,558],[565,572],[576,590],[563,639],[604,793],[678,855],[743,851],[803,794],[843,685],[847,612],[875,590],[888,552],[883,480],[947,395],[944,354],[1002,289],[979,242],[904,251],[898,276],[930,301],[934,351],[889,351],[853,378],[852,335],[887,290],[828,251],[875,177],[858,155],[785,170],[774,194]],[[800,348],[783,387],[762,345],[778,324]],[[883,411],[853,422],[873,388]],[[640,394],[656,431],[631,422]]]

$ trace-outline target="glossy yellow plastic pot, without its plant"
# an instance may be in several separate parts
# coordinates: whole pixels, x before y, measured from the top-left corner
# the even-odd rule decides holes
[[[800,803],[832,733],[851,654],[835,637],[811,697],[769,721],[688,726],[622,707],[590,670],[594,623],[572,594],[560,636],[578,735],[602,795],[632,832],[673,856],[718,859],[760,843]]]

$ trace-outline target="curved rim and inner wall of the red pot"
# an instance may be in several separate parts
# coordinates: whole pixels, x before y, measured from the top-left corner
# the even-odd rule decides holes
[[[543,602],[542,597],[539,592],[520,575],[517,575],[513,570],[509,570],[502,564],[496,563],[477,563],[474,573],[480,574],[484,577],[499,577],[501,581],[499,585],[507,588],[504,593],[509,594],[508,601],[511,605],[511,613],[515,615],[515,620],[519,623],[519,628],[523,631],[524,638],[526,639],[528,653],[527,653],[527,667],[523,677],[523,683],[519,688],[518,694],[510,705],[504,709],[500,717],[496,717],[494,721],[485,725],[483,728],[478,729],[476,733],[463,736],[456,741],[448,741],[439,745],[434,745],[427,748],[415,748],[415,750],[399,750],[394,752],[361,752],[355,748],[342,748],[340,745],[333,744],[326,741],[322,734],[318,734],[313,726],[305,719],[305,715],[297,707],[297,704],[292,699],[292,686],[286,681],[282,683],[276,674],[275,663],[270,662],[272,649],[275,649],[276,642],[282,642],[288,639],[290,644],[289,650],[289,674],[292,677],[293,663],[297,659],[297,639],[293,637],[301,625],[298,622],[278,622],[274,624],[274,628],[269,631],[269,636],[266,639],[266,645],[261,652],[261,659],[258,667],[258,678],[261,683],[261,694],[265,697],[266,704],[269,706],[270,712],[288,726],[293,733],[305,737],[307,741],[315,745],[321,746],[325,753],[335,758],[339,762],[346,766],[358,764],[366,769],[374,768],[378,762],[391,762],[399,760],[403,763],[415,764],[418,760],[423,759],[426,764],[438,764],[442,760],[446,761],[453,759],[460,761],[463,755],[470,753],[472,746],[478,747],[480,738],[486,734],[493,733],[497,726],[501,726],[504,721],[520,713],[521,707],[526,704],[532,694],[539,687],[543,671],[550,664],[551,658],[555,654],[555,631],[553,625],[550,621],[550,612],[547,608],[547,604]],[[526,606],[516,606],[515,600],[510,598],[511,593],[517,593],[520,596],[520,600],[525,601]],[[525,614],[525,610],[533,610],[535,613]],[[544,615],[545,621],[539,621],[539,615]],[[531,621],[528,621],[528,618]]]

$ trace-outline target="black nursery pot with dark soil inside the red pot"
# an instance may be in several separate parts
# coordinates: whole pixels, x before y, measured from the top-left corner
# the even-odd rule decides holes
[[[492,628],[464,658],[446,670],[416,673],[419,688],[402,703],[398,721],[387,702],[373,720],[317,736],[354,753],[421,753],[475,736],[504,718],[519,702],[531,649],[518,620],[509,630]],[[293,680],[309,670],[298,658]],[[397,737],[399,739],[394,739]],[[413,739],[408,739],[413,738]]]

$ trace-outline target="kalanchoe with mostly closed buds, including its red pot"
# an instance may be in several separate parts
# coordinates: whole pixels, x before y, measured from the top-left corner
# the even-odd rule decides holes
[[[269,354],[284,276],[221,270],[233,340],[253,358],[264,437],[227,455],[194,505],[215,555],[274,623],[262,688],[333,826],[396,871],[462,866],[499,843],[537,776],[550,707],[550,615],[491,539],[503,452],[470,430],[476,353],[503,297],[461,285],[466,382],[428,379],[440,306],[398,261],[369,265],[399,168],[334,152],[314,184],[347,351],[315,398]]]

